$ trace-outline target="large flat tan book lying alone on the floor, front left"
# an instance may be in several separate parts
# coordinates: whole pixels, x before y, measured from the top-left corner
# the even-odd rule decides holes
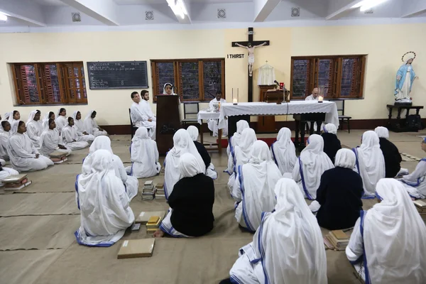
[[[124,241],[120,247],[118,259],[153,256],[155,239],[137,239]]]

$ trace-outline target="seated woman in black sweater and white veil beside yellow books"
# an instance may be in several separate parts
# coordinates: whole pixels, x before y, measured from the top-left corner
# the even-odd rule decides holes
[[[168,197],[170,209],[155,231],[175,237],[202,236],[213,229],[214,183],[204,175],[204,167],[191,153],[180,156],[178,170],[181,179]]]

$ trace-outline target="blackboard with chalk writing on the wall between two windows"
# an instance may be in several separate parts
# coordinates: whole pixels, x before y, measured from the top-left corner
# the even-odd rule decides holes
[[[146,89],[146,61],[87,62],[90,89]]]

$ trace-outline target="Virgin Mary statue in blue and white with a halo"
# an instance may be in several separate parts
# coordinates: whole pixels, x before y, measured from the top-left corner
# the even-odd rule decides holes
[[[405,64],[401,65],[396,72],[395,104],[412,104],[410,99],[411,87],[413,87],[414,80],[418,79],[412,66],[414,58],[415,53],[412,51],[403,55],[402,60]]]

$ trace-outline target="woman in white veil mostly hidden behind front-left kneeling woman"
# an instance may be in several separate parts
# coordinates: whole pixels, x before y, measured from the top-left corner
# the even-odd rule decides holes
[[[121,179],[123,182],[127,195],[129,199],[132,200],[138,194],[138,179],[132,177],[131,175],[127,175],[126,168],[124,168],[123,162],[121,161],[118,155],[114,155],[111,148],[111,140],[107,136],[98,136],[94,139],[92,145],[89,148],[89,157],[95,151],[98,150],[107,150],[112,155],[112,161],[114,162],[114,170],[116,173],[116,177]]]

